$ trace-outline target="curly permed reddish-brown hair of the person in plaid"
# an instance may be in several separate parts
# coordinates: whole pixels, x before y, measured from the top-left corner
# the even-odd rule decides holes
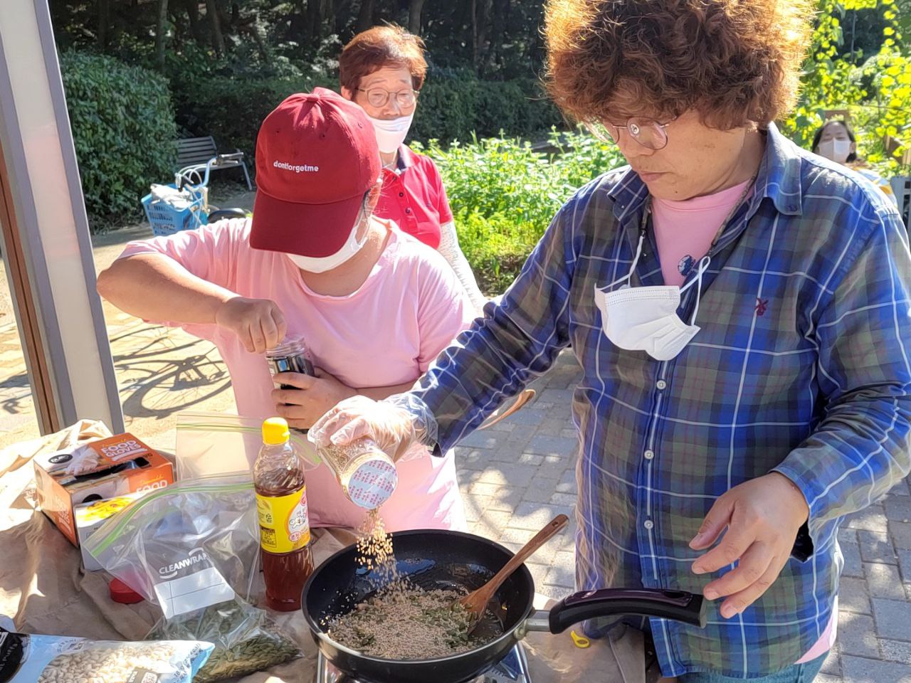
[[[765,127],[793,107],[809,0],[548,0],[548,91],[583,123],[687,110]]]

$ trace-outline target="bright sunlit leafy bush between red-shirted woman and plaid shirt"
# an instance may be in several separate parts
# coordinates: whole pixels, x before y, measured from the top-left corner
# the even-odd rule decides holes
[[[459,243],[487,293],[515,279],[576,189],[626,163],[617,148],[581,131],[554,131],[550,143],[556,150],[550,155],[515,138],[449,146],[433,141],[423,150],[440,169]]]

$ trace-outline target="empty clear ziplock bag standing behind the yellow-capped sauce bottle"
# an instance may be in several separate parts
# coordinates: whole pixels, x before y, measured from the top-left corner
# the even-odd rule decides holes
[[[226,413],[178,413],[175,448],[178,480],[252,472],[262,447],[261,430],[262,421],[258,418]],[[292,430],[291,440],[311,467],[320,464],[320,456],[305,434]]]

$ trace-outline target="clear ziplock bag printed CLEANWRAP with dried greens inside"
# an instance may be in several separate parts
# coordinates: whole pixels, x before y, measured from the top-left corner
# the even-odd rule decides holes
[[[161,607],[164,617],[148,637],[214,645],[195,683],[302,655],[250,604],[260,532],[249,473],[188,479],[148,494],[89,536],[86,549],[107,572]]]

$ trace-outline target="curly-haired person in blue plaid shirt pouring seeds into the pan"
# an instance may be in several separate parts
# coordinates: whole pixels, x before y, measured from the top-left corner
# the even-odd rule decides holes
[[[811,16],[806,0],[549,0],[552,97],[630,165],[568,200],[411,392],[317,423],[442,454],[571,345],[577,587],[701,593],[704,628],[634,622],[684,683],[813,680],[839,526],[911,469],[905,230],[773,123]]]

